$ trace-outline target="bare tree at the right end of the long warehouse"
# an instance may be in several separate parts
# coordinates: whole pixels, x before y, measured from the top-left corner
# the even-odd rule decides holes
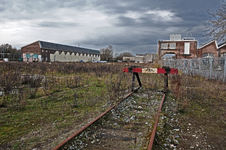
[[[103,61],[112,61],[113,59],[113,46],[109,45],[107,48],[100,50],[100,59]]]

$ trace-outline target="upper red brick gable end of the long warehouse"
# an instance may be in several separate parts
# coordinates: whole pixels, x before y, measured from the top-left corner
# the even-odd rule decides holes
[[[38,41],[22,47],[21,51],[22,51],[22,54],[34,53],[34,54],[41,55],[41,49]]]

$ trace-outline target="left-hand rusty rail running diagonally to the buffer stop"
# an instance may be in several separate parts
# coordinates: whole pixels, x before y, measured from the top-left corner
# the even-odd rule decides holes
[[[83,128],[81,128],[80,130],[78,130],[76,133],[74,133],[72,136],[70,136],[69,138],[67,138],[65,141],[63,141],[62,143],[60,143],[58,146],[56,146],[55,148],[53,148],[52,150],[59,150],[61,147],[63,147],[65,144],[67,144],[71,139],[73,139],[75,136],[77,136],[79,133],[81,133],[82,131],[84,131],[87,127],[89,127],[91,124],[93,124],[94,122],[96,122],[98,119],[100,119],[102,116],[104,116],[106,113],[108,113],[111,109],[113,109],[114,107],[116,107],[119,103],[121,103],[124,99],[126,99],[127,97],[129,97],[131,94],[133,94],[135,91],[137,91],[140,87],[136,88],[133,92],[130,92],[129,94],[127,94],[123,99],[121,99],[119,102],[117,102],[115,105],[113,105],[112,107],[110,107],[108,110],[106,110],[104,113],[102,113],[100,116],[98,116],[97,118],[95,118],[93,121],[91,121],[90,123],[88,123],[87,125],[85,125]]]

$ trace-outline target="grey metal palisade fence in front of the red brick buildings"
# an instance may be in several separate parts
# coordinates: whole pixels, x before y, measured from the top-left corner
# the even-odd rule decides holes
[[[159,63],[177,68],[187,75],[201,75],[209,79],[226,82],[226,57],[197,59],[165,59]]]

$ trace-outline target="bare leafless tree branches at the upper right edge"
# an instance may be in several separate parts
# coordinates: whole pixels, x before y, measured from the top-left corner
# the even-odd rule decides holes
[[[210,19],[205,24],[205,36],[213,40],[225,41],[226,40],[226,2],[222,2],[221,7],[217,10],[207,10]]]

